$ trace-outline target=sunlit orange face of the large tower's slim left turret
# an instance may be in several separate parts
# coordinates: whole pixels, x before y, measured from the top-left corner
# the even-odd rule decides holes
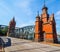
[[[40,16],[39,12],[35,21],[35,41],[40,41]]]

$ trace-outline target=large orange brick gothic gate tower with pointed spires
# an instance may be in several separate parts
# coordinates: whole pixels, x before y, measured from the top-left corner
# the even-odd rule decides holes
[[[38,15],[35,22],[35,41],[45,41],[57,43],[56,22],[54,14],[49,16],[48,8],[44,6],[42,8],[41,17]]]

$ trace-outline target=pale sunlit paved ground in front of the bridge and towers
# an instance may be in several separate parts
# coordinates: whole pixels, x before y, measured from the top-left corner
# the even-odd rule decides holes
[[[50,46],[29,40],[11,38],[11,46],[5,52],[60,52],[60,47]]]

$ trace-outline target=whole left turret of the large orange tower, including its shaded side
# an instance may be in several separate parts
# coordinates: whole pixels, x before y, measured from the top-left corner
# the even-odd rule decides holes
[[[41,41],[42,37],[42,21],[41,17],[38,15],[36,16],[36,21],[35,21],[35,41]]]

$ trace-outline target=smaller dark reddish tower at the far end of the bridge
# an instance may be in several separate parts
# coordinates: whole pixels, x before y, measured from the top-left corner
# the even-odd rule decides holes
[[[14,36],[14,34],[15,34],[15,25],[16,25],[15,18],[13,17],[13,19],[9,23],[8,36]]]

